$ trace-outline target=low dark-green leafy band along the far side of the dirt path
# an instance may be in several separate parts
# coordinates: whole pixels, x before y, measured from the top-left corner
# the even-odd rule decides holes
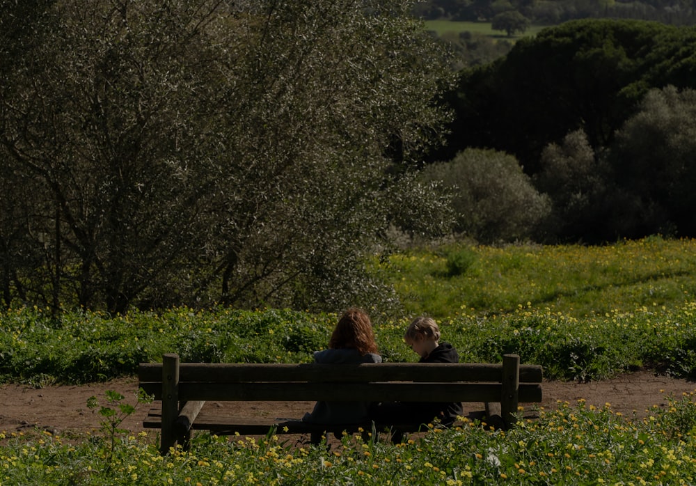
[[[679,377],[694,377],[696,342],[690,328],[696,304],[659,312],[644,308],[633,313],[611,313],[583,319],[534,308],[482,318],[457,315],[439,320],[443,340],[457,348],[461,361],[500,362],[503,354],[516,353],[523,363],[544,366],[551,379],[603,379],[646,364]],[[35,311],[24,309],[36,322]],[[178,310],[182,312],[182,310]],[[171,315],[170,313],[169,315]],[[197,330],[187,329],[150,315],[149,330],[123,329],[115,343],[101,339],[112,320],[91,328],[93,334],[77,336],[84,316],[65,315],[63,327],[46,334],[11,328],[3,322],[0,333],[0,376],[3,381],[84,383],[133,375],[138,363],[161,361],[164,352],[177,352],[182,361],[303,363],[312,352],[326,347],[335,315],[290,311],[198,313]],[[136,313],[127,319],[143,322]],[[404,343],[408,319],[375,323],[377,343],[384,361],[416,361]],[[19,322],[9,320],[9,322]],[[290,324],[292,322],[292,324]],[[253,325],[258,327],[254,329]],[[41,326],[37,326],[40,328]],[[70,337],[68,337],[70,336]]]

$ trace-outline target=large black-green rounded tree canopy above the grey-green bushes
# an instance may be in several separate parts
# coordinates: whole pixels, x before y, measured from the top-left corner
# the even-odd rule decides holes
[[[610,19],[523,38],[505,58],[461,72],[450,150],[495,148],[534,174],[543,148],[578,127],[594,150],[606,147],[649,88],[693,83],[693,42],[692,29]]]

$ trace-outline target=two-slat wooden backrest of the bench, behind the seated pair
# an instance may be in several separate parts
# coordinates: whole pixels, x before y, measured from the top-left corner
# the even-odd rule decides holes
[[[511,380],[520,402],[541,401],[541,366],[519,365],[519,357],[516,367],[509,370],[500,363],[178,363],[176,370],[168,373],[172,380],[176,371],[173,385],[182,402],[500,402],[501,384]],[[141,363],[139,379],[147,393],[161,400],[162,363]]]

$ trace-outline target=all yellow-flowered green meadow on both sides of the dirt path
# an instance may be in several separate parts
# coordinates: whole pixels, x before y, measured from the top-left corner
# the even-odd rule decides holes
[[[544,366],[548,379],[603,379],[642,368],[696,377],[692,240],[448,246],[379,265],[405,309],[401,316],[369,309],[385,361],[416,360],[403,331],[411,316],[428,313],[461,361],[498,362],[515,352],[523,363]],[[134,375],[138,363],[160,361],[165,352],[182,361],[308,362],[326,347],[336,318],[283,309],[8,309],[0,312],[0,382],[105,381]],[[696,484],[693,394],[665,397],[669,406],[640,417],[579,400],[533,409],[537,418],[520,418],[505,432],[473,421],[451,430],[434,424],[397,446],[374,436],[344,437],[327,449],[274,434],[201,433],[191,450],[165,457],[154,432],[118,428],[118,417],[139,406],[136,398],[97,400],[104,422],[93,434],[2,432],[0,485]]]

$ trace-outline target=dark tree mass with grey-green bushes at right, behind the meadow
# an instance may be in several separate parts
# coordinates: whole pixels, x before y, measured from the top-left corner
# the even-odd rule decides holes
[[[578,20],[462,70],[424,177],[478,241],[696,235],[696,30]]]

